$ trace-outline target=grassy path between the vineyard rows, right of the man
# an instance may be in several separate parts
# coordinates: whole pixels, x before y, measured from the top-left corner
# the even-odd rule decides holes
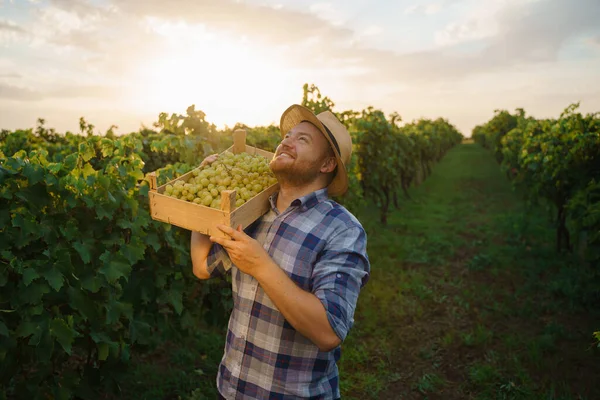
[[[475,144],[411,196],[387,227],[359,216],[372,277],[342,347],[343,398],[600,399],[593,290],[554,251],[547,214]]]

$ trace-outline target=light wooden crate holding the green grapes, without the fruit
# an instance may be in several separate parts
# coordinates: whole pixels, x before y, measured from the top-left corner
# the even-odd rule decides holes
[[[226,151],[234,154],[244,152],[259,154],[269,160],[273,158],[273,153],[247,145],[246,131],[243,129],[238,129],[233,133],[233,146]],[[227,235],[217,228],[217,225],[222,224],[232,228],[242,225],[242,228],[246,228],[269,211],[269,196],[279,187],[279,184],[275,183],[237,208],[235,206],[237,195],[235,190],[224,190],[221,192],[220,209],[176,199],[164,194],[167,185],[173,185],[178,180],[187,180],[190,176],[193,176],[193,170],[157,187],[156,173],[152,172],[150,174],[149,199],[152,219],[206,235],[227,237]]]

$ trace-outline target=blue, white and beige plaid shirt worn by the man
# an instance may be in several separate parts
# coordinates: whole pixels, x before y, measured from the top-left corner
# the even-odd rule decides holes
[[[334,332],[344,340],[369,279],[366,233],[352,214],[328,199],[327,189],[294,200],[283,213],[275,196],[269,199],[271,210],[245,232],[321,301]],[[220,245],[212,246],[207,263],[211,276],[232,273],[234,305],[217,376],[221,395],[230,400],[339,398],[341,347],[322,352],[296,331]]]

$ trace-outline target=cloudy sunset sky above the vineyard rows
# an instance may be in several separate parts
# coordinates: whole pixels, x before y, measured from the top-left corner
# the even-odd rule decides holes
[[[0,0],[0,129],[104,133],[188,106],[278,123],[315,84],[335,111],[600,112],[599,0]]]

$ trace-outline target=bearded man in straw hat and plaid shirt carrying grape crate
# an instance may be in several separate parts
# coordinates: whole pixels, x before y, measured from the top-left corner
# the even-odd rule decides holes
[[[192,232],[194,274],[232,273],[217,387],[225,399],[337,399],[340,344],[370,273],[363,227],[328,198],[348,188],[352,140],[333,113],[300,105],[280,130],[270,211],[245,232],[221,226],[231,239]]]

